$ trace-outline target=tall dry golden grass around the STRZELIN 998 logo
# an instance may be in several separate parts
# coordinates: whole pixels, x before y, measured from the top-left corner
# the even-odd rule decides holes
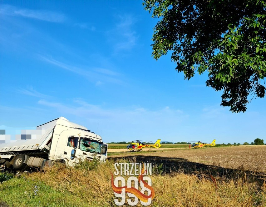
[[[120,159],[117,162],[129,161]],[[196,174],[185,174],[181,170],[164,173],[162,167],[153,166],[150,178],[155,198],[150,206],[266,206],[266,184],[249,179],[245,173],[235,179],[214,175],[199,177]],[[40,180],[62,192],[71,192],[88,205],[116,206],[110,171],[115,171],[114,161],[100,164],[93,160],[74,168],[57,165],[43,172],[29,174],[28,178]]]

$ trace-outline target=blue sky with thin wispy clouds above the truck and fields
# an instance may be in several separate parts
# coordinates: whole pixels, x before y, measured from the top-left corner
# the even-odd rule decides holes
[[[170,53],[151,58],[157,19],[141,3],[1,1],[0,128],[63,116],[105,142],[266,141],[265,98],[232,114],[207,73],[187,81]]]

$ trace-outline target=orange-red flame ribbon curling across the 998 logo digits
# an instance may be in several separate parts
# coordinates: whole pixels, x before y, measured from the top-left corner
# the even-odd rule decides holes
[[[142,162],[142,164],[143,164],[144,167],[141,170],[141,174],[139,175],[138,180],[139,180],[139,182],[141,181],[143,183],[144,187],[146,187],[146,188],[148,188],[150,190],[150,195],[145,195],[145,194],[141,193],[139,189],[136,189],[134,187],[130,187],[130,188],[128,188],[126,186],[124,186],[124,187],[116,187],[115,184],[114,184],[114,176],[110,172],[111,175],[112,175],[111,184],[112,184],[112,189],[114,190],[114,192],[116,192],[118,194],[121,194],[122,193],[122,189],[125,188],[126,193],[134,194],[142,202],[148,202],[149,198],[151,198],[151,200],[154,199],[154,197],[155,197],[154,189],[150,185],[148,185],[148,183],[146,183],[145,180],[143,179],[143,175],[146,172],[146,170],[145,170],[145,165],[144,165],[143,162]]]

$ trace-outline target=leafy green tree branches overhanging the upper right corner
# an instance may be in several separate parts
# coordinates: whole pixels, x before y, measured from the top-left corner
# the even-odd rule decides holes
[[[245,112],[254,97],[263,98],[266,77],[266,1],[144,0],[159,18],[152,56],[172,52],[176,70],[190,79],[209,73],[206,85],[223,91],[221,105]],[[250,98],[250,99],[249,99]]]

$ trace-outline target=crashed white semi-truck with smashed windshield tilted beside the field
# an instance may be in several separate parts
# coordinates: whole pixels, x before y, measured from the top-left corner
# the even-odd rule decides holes
[[[106,161],[108,144],[101,136],[64,117],[37,126],[36,132],[0,144],[1,169],[43,169],[55,162],[74,166],[84,160]]]

